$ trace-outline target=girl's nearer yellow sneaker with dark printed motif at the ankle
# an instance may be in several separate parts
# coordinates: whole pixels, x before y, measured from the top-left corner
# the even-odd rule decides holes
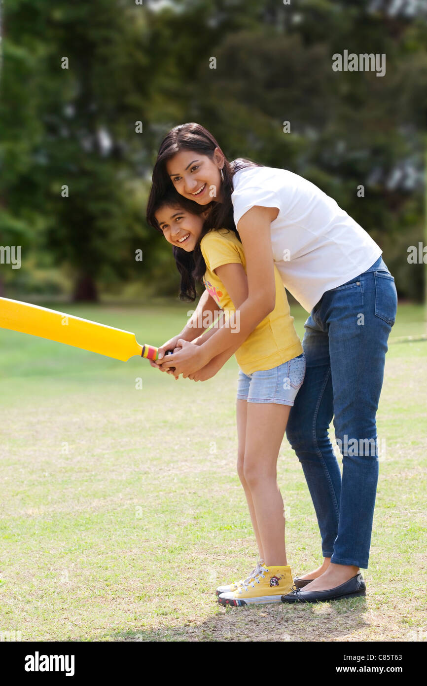
[[[218,602],[221,605],[249,605],[252,603],[282,602],[284,593],[291,593],[293,578],[291,566],[286,567],[263,567],[257,576],[242,584],[235,591],[221,593]]]

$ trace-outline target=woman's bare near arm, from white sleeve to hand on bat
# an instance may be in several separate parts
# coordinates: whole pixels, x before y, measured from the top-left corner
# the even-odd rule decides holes
[[[278,208],[255,206],[243,215],[237,225],[247,269],[247,298],[238,309],[239,331],[222,327],[203,345],[186,344],[182,350],[168,355],[164,365],[175,367],[175,374],[188,377],[213,358],[216,358],[216,366],[219,362],[222,366],[240,348],[249,333],[274,309],[276,285],[270,224],[277,215]]]

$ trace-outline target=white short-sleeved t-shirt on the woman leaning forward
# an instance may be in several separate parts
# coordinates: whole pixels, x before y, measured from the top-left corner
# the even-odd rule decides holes
[[[273,258],[284,286],[308,312],[325,291],[365,272],[382,250],[337,202],[286,169],[246,167],[233,176],[234,223],[254,206],[277,207]]]

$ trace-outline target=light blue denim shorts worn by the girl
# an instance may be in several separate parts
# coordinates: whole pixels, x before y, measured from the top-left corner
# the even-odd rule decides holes
[[[278,367],[252,374],[239,371],[237,399],[248,403],[276,403],[293,405],[306,373],[304,353]]]

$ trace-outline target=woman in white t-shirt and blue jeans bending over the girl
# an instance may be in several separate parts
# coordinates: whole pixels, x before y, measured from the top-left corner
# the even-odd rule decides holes
[[[162,141],[150,206],[170,186],[209,209],[210,226],[234,222],[247,264],[248,295],[238,333],[223,327],[201,346],[191,327],[162,346],[162,370],[206,380],[271,312],[273,263],[284,286],[310,312],[303,340],[306,377],[286,436],[302,463],[321,532],[323,563],[295,580],[284,602],[360,595],[367,568],[378,481],[376,410],[397,295],[381,250],[337,203],[284,169],[230,164],[199,124]],[[175,248],[174,248],[175,250]],[[176,248],[180,250],[180,248]],[[206,307],[202,296],[196,314]],[[167,350],[182,348],[168,355]],[[328,437],[334,418],[343,476]]]

